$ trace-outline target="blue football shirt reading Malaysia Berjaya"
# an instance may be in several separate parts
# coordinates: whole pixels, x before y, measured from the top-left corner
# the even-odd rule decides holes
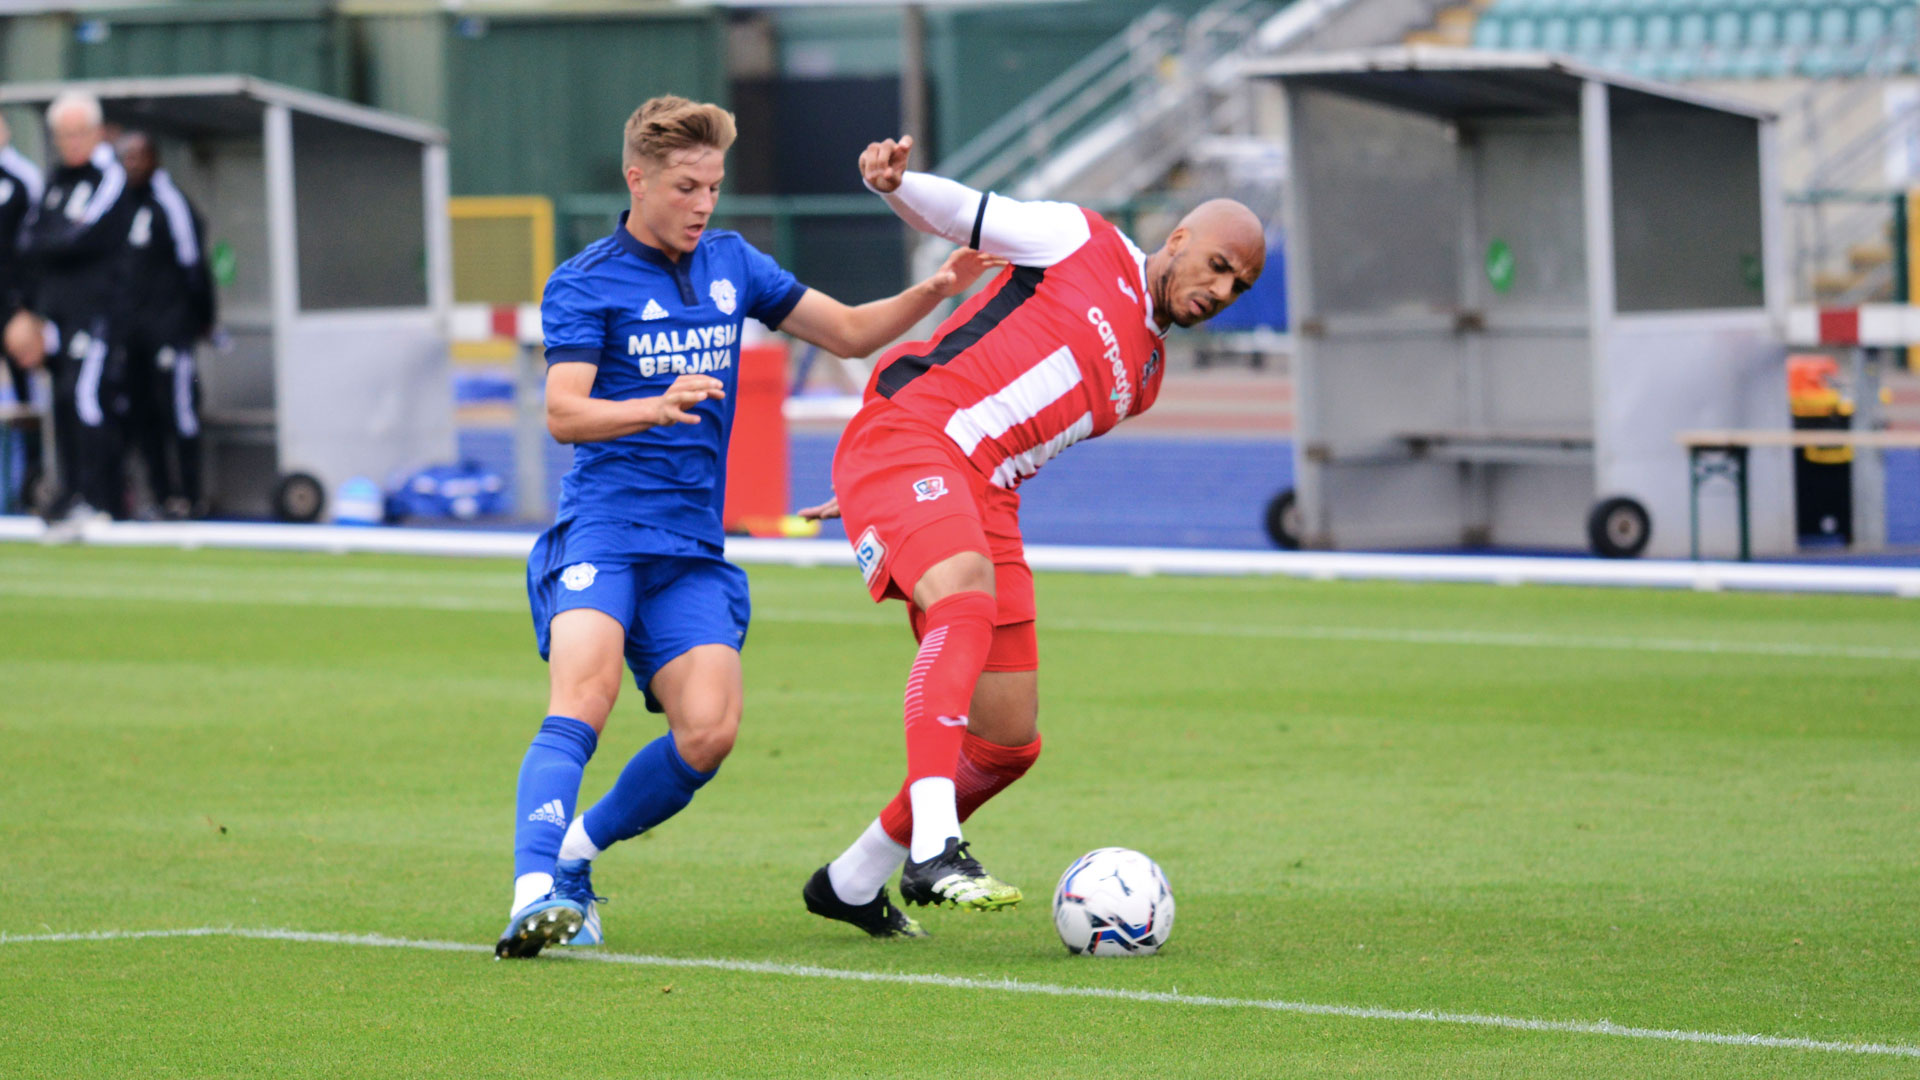
[[[726,384],[724,400],[691,409],[697,425],[576,444],[555,521],[630,523],[724,544],[739,329],[749,315],[778,329],[804,292],[737,233],[708,229],[676,261],[636,240],[626,213],[611,236],[555,269],[540,302],[547,365],[597,365],[595,398],[659,398],[682,375]]]

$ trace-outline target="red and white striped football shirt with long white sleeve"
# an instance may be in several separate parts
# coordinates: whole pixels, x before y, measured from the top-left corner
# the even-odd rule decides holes
[[[1014,267],[929,340],[881,356],[868,409],[900,409],[945,432],[993,484],[1016,488],[1154,404],[1165,342],[1146,256],[1119,229],[1079,206],[979,194],[925,173],[906,173],[887,202],[908,225]]]

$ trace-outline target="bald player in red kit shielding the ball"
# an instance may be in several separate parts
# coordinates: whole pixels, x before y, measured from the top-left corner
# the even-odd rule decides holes
[[[920,653],[906,678],[906,782],[839,859],[806,882],[806,909],[876,938],[918,938],[887,899],[995,911],[1020,890],[968,849],[960,822],[1041,753],[1033,573],[1021,480],[1068,446],[1154,404],[1171,325],[1202,323],[1265,263],[1260,219],[1212,200],[1152,256],[1091,209],[1018,202],[906,171],[912,138],[860,156],[866,184],[922,233],[1012,269],[941,323],[889,350],[833,454],[835,500],[876,601],[900,598]]]

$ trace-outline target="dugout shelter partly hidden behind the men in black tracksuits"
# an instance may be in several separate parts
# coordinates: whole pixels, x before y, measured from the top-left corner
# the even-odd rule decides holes
[[[444,131],[244,75],[19,83],[0,108],[27,131],[63,90],[150,133],[207,217],[215,513],[315,521],[351,477],[455,455]]]

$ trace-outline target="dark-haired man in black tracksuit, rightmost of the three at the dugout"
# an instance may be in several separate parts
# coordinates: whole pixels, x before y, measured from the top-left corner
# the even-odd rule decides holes
[[[129,434],[154,500],[171,519],[200,511],[200,384],[194,344],[213,331],[205,221],[159,167],[144,133],[119,140],[132,223],[127,231]]]

